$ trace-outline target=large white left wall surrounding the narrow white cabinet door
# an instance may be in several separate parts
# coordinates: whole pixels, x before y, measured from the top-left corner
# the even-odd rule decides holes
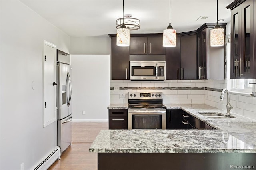
[[[44,40],[69,52],[70,38],[19,0],[0,0],[0,29],[0,169],[28,170],[56,148],[56,122],[42,127]]]

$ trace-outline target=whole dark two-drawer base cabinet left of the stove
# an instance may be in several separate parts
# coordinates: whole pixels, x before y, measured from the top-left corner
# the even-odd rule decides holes
[[[109,129],[128,129],[127,109],[108,109]]]

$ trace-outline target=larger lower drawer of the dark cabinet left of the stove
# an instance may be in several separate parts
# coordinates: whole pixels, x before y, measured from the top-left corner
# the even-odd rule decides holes
[[[109,117],[109,129],[128,129],[127,117]]]

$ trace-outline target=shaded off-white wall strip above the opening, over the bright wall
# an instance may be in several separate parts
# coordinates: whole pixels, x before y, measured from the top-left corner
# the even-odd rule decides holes
[[[71,37],[71,54],[110,54],[111,39],[108,35],[92,37]]]

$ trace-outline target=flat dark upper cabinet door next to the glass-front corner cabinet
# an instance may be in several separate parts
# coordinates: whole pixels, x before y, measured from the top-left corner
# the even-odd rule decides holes
[[[180,33],[180,79],[196,80],[197,32]],[[168,73],[166,73],[168,74]]]

